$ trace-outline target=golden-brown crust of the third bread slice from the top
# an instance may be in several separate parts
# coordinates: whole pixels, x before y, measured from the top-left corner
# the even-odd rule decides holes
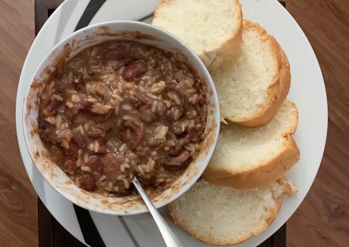
[[[290,101],[290,103],[296,108],[294,102]],[[260,164],[255,168],[241,171],[217,169],[208,166],[202,177],[211,184],[236,189],[253,189],[280,179],[285,172],[299,161],[300,151],[293,138],[297,125],[298,111],[296,111],[294,126],[288,132],[282,134],[282,138],[286,140],[283,150],[274,157],[270,157],[268,162]]]

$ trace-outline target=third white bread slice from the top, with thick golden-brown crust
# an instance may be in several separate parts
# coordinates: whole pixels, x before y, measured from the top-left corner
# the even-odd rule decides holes
[[[265,186],[279,179],[299,160],[292,136],[297,125],[297,108],[287,99],[265,126],[221,125],[217,148],[203,178],[239,189]]]

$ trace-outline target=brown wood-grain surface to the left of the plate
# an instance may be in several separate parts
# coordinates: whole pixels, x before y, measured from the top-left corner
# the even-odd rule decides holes
[[[0,0],[0,246],[37,246],[36,194],[18,149],[14,116],[33,38],[33,1]]]

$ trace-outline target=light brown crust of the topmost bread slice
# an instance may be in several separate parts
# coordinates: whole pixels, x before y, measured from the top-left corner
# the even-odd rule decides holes
[[[162,7],[174,1],[176,0],[162,0],[154,12],[153,20],[157,18],[158,12]],[[238,0],[231,1],[234,2],[238,10],[235,19],[235,22],[237,23],[236,28],[232,30],[230,37],[220,47],[211,51],[203,51],[201,54],[198,54],[208,70],[218,68],[223,61],[234,57],[240,48],[242,41],[242,10]]]

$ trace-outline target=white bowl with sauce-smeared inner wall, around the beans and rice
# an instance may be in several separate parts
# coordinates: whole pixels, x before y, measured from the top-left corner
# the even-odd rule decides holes
[[[217,92],[206,67],[200,58],[179,38],[158,27],[132,21],[114,21],[100,23],[74,32],[54,46],[44,57],[32,76],[30,87],[24,101],[23,126],[25,141],[35,166],[57,192],[82,208],[111,215],[131,215],[147,212],[139,196],[104,197],[81,190],[52,161],[50,155],[38,136],[37,116],[41,92],[46,80],[55,69],[59,57],[68,55],[68,59],[87,47],[108,40],[137,40],[144,44],[156,46],[165,51],[187,59],[188,64],[207,82],[207,124],[206,139],[202,143],[198,157],[192,161],[185,172],[172,183],[171,187],[152,198],[157,208],[163,207],[186,192],[201,176],[215,150],[219,128],[220,112]],[[184,56],[183,56],[184,55]]]

